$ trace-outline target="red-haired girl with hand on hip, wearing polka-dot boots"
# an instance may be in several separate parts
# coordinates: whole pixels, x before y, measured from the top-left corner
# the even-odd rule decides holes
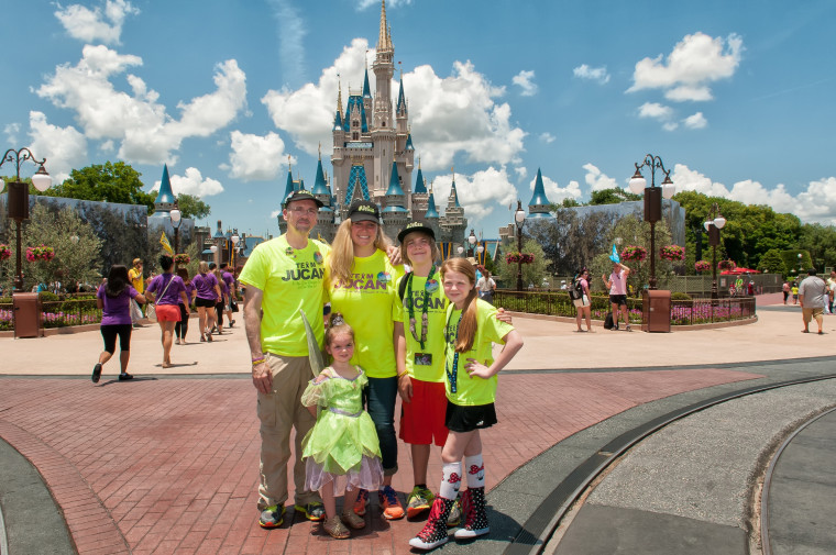
[[[510,324],[496,319],[496,309],[477,299],[476,274],[465,258],[450,258],[441,266],[441,282],[450,301],[447,309],[444,370],[446,424],[450,430],[441,451],[443,479],[427,524],[409,545],[432,550],[448,541],[447,518],[462,480],[462,458],[468,489],[462,493],[464,525],[458,540],[487,534],[485,466],[480,429],[496,423],[496,375],[522,347],[522,337]],[[496,359],[492,344],[505,346]]]

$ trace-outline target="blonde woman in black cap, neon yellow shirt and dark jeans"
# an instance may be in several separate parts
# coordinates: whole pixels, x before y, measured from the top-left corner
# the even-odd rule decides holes
[[[331,245],[324,281],[331,311],[342,313],[354,329],[356,348],[351,362],[369,376],[366,410],[374,421],[383,455],[384,487],[378,498],[383,517],[394,520],[404,518],[404,508],[392,488],[392,477],[397,471],[395,282],[404,275],[404,267],[389,260],[388,241],[380,219],[374,202],[361,200],[351,204],[349,217],[340,224]],[[365,514],[367,501],[369,492],[361,490],[354,512]]]

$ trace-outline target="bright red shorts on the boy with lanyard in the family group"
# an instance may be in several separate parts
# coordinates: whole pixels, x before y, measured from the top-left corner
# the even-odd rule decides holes
[[[430,445],[435,437],[436,445],[443,447],[448,434],[444,425],[444,384],[409,379],[413,382],[413,400],[402,403],[398,437],[413,445]]]

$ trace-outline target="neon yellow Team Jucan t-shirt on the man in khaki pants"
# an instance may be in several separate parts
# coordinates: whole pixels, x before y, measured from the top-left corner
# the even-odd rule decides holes
[[[330,247],[308,240],[301,251],[286,235],[258,244],[241,270],[239,280],[264,291],[261,344],[265,353],[308,356],[308,340],[299,309],[305,311],[322,346],[324,257]]]

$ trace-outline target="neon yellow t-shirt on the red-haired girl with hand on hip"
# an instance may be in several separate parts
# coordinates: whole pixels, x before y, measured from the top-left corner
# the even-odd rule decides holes
[[[457,391],[452,391],[450,384],[453,375],[453,360],[455,357],[455,337],[459,332],[459,317],[462,311],[455,309],[455,304],[447,308],[447,325],[444,337],[447,340],[447,359],[444,360],[444,380],[447,398],[453,404],[474,407],[490,404],[496,399],[497,377],[488,379],[471,377],[464,365],[468,358],[475,358],[485,366],[494,363],[492,351],[493,343],[503,343],[503,337],[514,330],[514,326],[496,319],[496,308],[490,302],[476,299],[476,336],[473,340],[473,348],[459,354],[459,364],[455,371]],[[448,374],[449,373],[449,374]]]

